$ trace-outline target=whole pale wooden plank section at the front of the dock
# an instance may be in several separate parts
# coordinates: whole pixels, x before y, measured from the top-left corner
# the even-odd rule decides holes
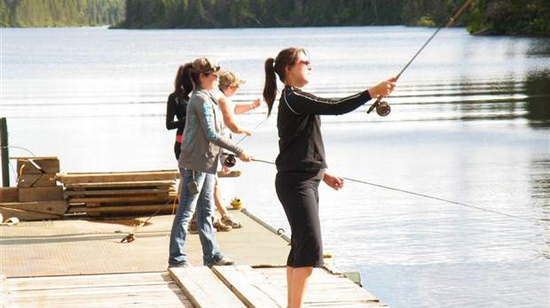
[[[2,307],[287,306],[284,267],[194,266],[168,272],[3,277]],[[343,275],[315,269],[310,307],[386,306]]]

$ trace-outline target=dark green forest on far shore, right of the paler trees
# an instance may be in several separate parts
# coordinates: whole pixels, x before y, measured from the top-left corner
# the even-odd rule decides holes
[[[465,0],[126,0],[117,27],[440,26]],[[470,33],[550,35],[550,0],[475,0]]]

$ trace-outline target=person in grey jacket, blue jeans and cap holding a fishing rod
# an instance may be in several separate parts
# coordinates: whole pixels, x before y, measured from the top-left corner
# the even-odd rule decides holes
[[[189,98],[182,149],[178,158],[181,196],[172,224],[169,242],[169,266],[188,266],[185,255],[187,223],[197,211],[197,227],[204,266],[230,266],[234,261],[224,256],[216,243],[212,226],[215,174],[221,149],[231,150],[242,161],[248,153],[222,135],[222,114],[209,91],[215,88],[218,75],[224,73],[210,58],[193,61],[191,78],[195,88]]]

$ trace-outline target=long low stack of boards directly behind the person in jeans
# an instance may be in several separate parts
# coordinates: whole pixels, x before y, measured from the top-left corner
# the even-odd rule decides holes
[[[150,214],[173,211],[177,171],[127,173],[66,173],[58,175],[65,186],[68,213],[89,216]],[[177,205],[177,204],[176,204]]]

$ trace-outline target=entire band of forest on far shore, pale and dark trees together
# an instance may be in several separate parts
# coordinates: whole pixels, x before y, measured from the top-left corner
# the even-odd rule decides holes
[[[465,0],[0,0],[1,27],[443,25]],[[550,35],[550,0],[474,0],[470,33]]]

